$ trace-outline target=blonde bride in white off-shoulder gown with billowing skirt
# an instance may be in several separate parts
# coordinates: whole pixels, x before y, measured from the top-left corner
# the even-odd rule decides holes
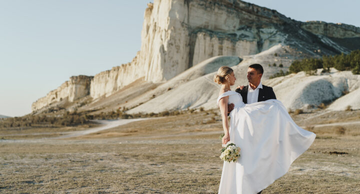
[[[228,141],[241,148],[235,162],[224,161],[218,193],[257,193],[284,175],[291,163],[315,139],[315,134],[297,126],[281,101],[244,104],[241,95],[230,90],[236,78],[228,66],[221,66],[214,81],[221,84],[217,104]],[[230,123],[227,104],[233,103]]]

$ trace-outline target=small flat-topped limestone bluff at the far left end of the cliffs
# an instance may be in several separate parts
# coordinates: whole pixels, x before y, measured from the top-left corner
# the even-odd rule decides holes
[[[89,94],[90,81],[93,76],[78,75],[71,76],[70,80],[65,81],[56,89],[47,93],[46,96],[39,98],[31,105],[31,110],[35,111],[50,103],[63,100],[74,101]]]

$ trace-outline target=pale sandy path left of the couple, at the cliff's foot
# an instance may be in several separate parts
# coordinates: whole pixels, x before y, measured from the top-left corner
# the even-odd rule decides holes
[[[60,139],[60,138],[69,138],[69,137],[76,137],[76,136],[81,136],[81,135],[86,135],[86,134],[90,134],[93,132],[98,132],[101,130],[105,130],[105,129],[109,129],[109,128],[113,128],[119,125],[123,125],[123,124],[127,124],[130,122],[134,122],[134,121],[139,121],[139,120],[146,120],[149,118],[133,118],[133,119],[118,119],[118,120],[96,120],[96,122],[99,122],[102,124],[102,126],[98,126],[98,127],[94,127],[94,128],[90,128],[90,129],[86,129],[86,130],[78,130],[78,131],[74,131],[71,132],[70,134],[65,134],[62,136],[57,136],[57,137],[50,137],[48,139]]]

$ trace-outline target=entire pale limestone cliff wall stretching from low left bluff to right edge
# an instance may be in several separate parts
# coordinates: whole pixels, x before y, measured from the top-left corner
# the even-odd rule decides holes
[[[154,0],[145,9],[141,48],[131,62],[96,74],[86,89],[71,90],[65,82],[32,109],[61,97],[108,96],[139,78],[166,81],[210,57],[256,54],[279,43],[306,56],[348,53],[360,48],[360,28],[295,21],[241,0]]]

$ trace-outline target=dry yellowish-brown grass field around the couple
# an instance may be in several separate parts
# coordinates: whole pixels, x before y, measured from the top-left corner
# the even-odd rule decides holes
[[[359,121],[360,110],[292,117],[317,137],[262,193],[360,193],[360,124],[336,125]],[[334,124],[318,125],[326,123]],[[0,193],[217,192],[222,129],[215,111],[142,120],[68,139],[46,138],[58,136],[54,130],[44,129],[44,139],[0,130]]]

